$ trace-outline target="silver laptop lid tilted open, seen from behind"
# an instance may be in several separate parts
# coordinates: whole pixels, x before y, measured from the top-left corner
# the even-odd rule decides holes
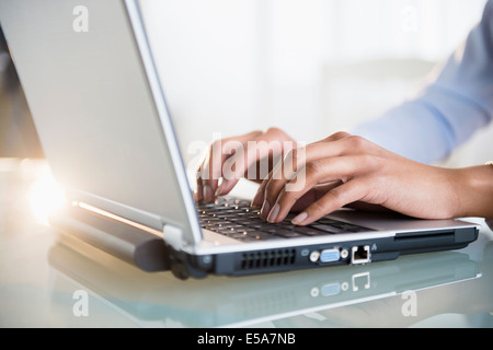
[[[70,200],[188,244],[200,230],[137,1],[0,1],[44,152]],[[85,21],[85,22],[84,22]]]

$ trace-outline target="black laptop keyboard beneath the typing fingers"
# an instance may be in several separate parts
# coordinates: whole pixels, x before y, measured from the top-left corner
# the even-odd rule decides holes
[[[260,218],[260,209],[250,207],[250,201],[232,197],[219,197],[213,203],[198,203],[197,213],[203,229],[241,241],[283,240],[370,231],[329,218],[322,218],[306,226],[297,226],[290,222],[295,214],[288,214],[279,223],[268,223]]]

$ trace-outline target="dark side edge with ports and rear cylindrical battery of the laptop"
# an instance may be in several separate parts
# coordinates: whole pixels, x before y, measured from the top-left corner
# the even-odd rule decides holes
[[[69,207],[53,215],[50,225],[61,233],[60,241],[78,250],[89,244],[148,272],[171,272],[179,279],[207,275],[246,276],[341,265],[365,265],[393,260],[400,255],[460,249],[478,237],[475,228],[398,234],[395,236],[341,240],[287,248],[191,255],[167,245],[162,237],[128,224]]]

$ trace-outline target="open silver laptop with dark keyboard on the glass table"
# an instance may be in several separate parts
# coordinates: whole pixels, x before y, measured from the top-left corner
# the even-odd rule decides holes
[[[479,228],[459,220],[342,209],[300,228],[267,224],[240,198],[196,206],[141,2],[0,2],[45,155],[72,208],[158,237],[180,278],[362,265],[477,240]],[[126,249],[110,234],[106,246]]]

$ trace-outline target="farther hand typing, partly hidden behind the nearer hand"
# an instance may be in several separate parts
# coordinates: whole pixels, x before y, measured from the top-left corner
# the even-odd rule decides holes
[[[278,128],[214,141],[197,168],[195,200],[211,202],[227,195],[241,177],[262,183],[273,165],[296,147]]]

